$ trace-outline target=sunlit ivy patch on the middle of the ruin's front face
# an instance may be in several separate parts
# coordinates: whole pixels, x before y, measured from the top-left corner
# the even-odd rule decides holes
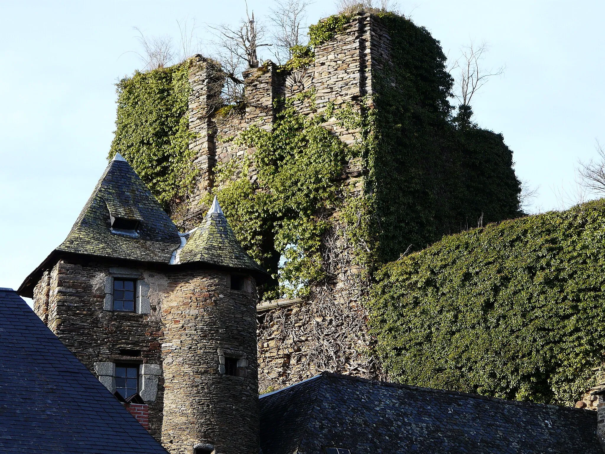
[[[307,283],[324,277],[319,246],[349,156],[321,126],[324,120],[296,114],[287,103],[272,130],[251,127],[238,137],[255,148],[252,155],[217,168],[214,193],[238,239],[267,269],[279,269],[280,288],[265,298],[304,295]],[[250,166],[257,172],[254,183]]]

